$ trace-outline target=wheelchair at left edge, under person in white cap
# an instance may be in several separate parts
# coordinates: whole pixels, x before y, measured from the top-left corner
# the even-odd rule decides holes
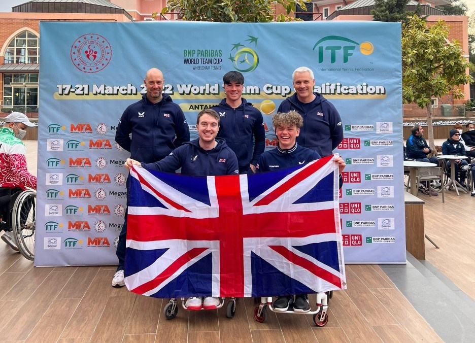
[[[16,197],[12,205],[12,196]],[[35,258],[36,191],[13,192],[0,188],[0,231],[12,231],[19,252],[28,260]]]

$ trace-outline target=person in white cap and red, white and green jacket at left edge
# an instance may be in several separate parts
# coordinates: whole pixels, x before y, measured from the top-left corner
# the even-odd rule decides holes
[[[33,127],[23,113],[13,112],[0,127],[0,232],[2,239],[12,249],[18,251],[12,236],[11,211],[15,199],[27,189],[36,189],[37,178],[26,168],[26,147],[21,141],[28,127]]]

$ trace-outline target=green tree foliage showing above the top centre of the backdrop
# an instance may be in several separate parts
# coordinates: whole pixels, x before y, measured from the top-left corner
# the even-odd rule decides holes
[[[287,14],[295,12],[296,4],[306,9],[303,0],[169,0],[161,13],[178,12],[183,20],[191,21],[269,22],[274,20],[273,3],[282,5]],[[283,14],[277,17],[277,21],[291,20]]]

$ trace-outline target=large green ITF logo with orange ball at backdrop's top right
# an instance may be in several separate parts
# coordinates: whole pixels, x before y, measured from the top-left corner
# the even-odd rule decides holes
[[[370,55],[374,51],[374,47],[371,42],[358,43],[349,38],[342,36],[326,36],[315,43],[312,50],[318,51],[318,63],[327,62],[330,59],[330,63],[343,62],[348,63],[350,56],[353,56],[356,48],[363,55]]]

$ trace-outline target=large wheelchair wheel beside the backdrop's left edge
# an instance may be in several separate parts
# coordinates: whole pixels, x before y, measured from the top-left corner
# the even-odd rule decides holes
[[[13,205],[12,223],[20,253],[32,261],[35,258],[36,191],[21,192]]]

